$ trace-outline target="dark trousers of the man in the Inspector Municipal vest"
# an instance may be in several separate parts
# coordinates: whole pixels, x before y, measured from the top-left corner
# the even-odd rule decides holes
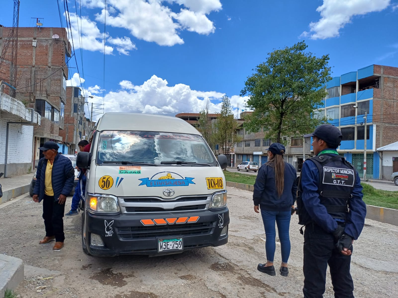
[[[350,274],[351,256],[337,252],[332,234],[319,226],[306,226],[304,232],[304,298],[322,298],[329,265],[335,298],[353,298]]]

